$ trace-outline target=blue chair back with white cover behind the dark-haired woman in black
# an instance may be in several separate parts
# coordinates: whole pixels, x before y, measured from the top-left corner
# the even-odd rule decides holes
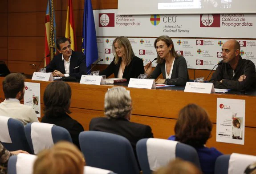
[[[33,139],[33,137],[31,136],[32,131],[34,131],[31,128],[33,127],[32,124],[36,124],[37,127],[41,127],[41,130],[43,130],[44,134],[46,134],[49,141],[45,140],[45,135],[42,135],[41,132],[38,132],[39,138],[37,137],[36,139]],[[29,123],[25,126],[26,138],[28,140],[28,144],[30,148],[32,149],[33,154],[37,154],[41,150],[51,148],[53,144],[57,143],[58,141],[72,142],[72,139],[68,130],[66,130],[63,127],[53,125],[50,131],[49,130],[44,131],[44,129],[49,129],[49,127],[46,127],[46,128],[44,127],[45,124],[47,123]],[[33,144],[39,144],[40,146],[35,147]]]

